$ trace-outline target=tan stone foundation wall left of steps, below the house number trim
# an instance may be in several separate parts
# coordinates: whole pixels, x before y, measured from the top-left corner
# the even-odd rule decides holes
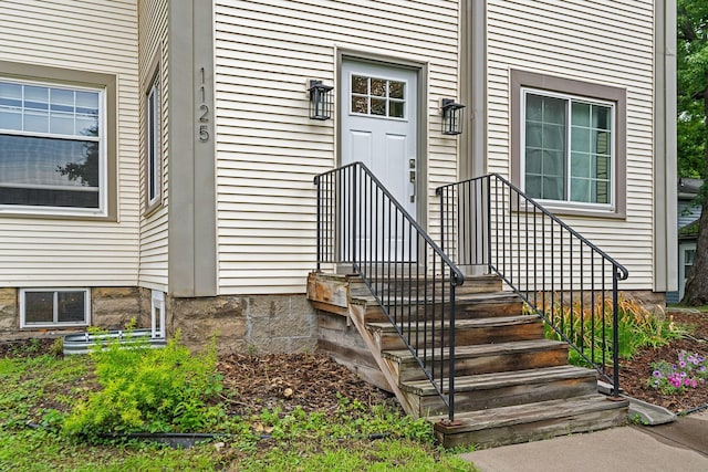
[[[167,297],[168,335],[192,349],[217,336],[220,353],[299,353],[317,344],[317,318],[305,295]]]

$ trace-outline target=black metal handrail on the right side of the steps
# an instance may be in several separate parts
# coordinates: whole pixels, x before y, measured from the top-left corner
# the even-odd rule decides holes
[[[436,195],[440,248],[459,266],[498,274],[618,396],[617,283],[627,270],[499,175]]]

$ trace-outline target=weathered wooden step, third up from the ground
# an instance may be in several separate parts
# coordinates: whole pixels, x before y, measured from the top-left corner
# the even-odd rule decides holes
[[[382,356],[396,370],[399,384],[421,380],[425,373],[408,349],[384,350]],[[418,349],[418,356],[435,361],[447,375],[449,350]],[[568,364],[568,344],[550,339],[459,346],[455,349],[456,376],[527,370]]]

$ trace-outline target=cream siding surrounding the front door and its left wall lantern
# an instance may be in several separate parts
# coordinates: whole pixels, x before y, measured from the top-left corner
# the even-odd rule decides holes
[[[315,268],[313,177],[336,165],[337,146],[336,118],[309,118],[306,87],[321,80],[337,95],[340,50],[427,64],[421,178],[437,211],[435,187],[457,175],[457,139],[441,135],[439,107],[459,96],[458,9],[457,1],[216,1],[220,294],[304,291]]]

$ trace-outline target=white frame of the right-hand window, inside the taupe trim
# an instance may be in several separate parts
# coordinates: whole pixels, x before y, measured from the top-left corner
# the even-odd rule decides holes
[[[538,90],[538,88],[532,88],[532,87],[521,87],[521,95],[522,95],[522,107],[521,107],[521,150],[522,150],[522,156],[521,156],[521,189],[527,192],[525,189],[525,176],[527,176],[527,169],[525,169],[525,165],[527,165],[527,156],[525,156],[525,145],[527,145],[527,136],[525,136],[525,123],[527,123],[527,98],[529,95],[538,95],[538,96],[542,96],[542,97],[550,97],[550,98],[559,98],[564,101],[565,103],[565,107],[564,107],[564,113],[565,113],[565,149],[564,149],[564,175],[563,175],[563,181],[564,181],[564,186],[565,186],[565,196],[564,199],[562,200],[552,200],[552,199],[542,199],[542,198],[537,198],[537,200],[543,204],[548,204],[548,206],[552,206],[552,204],[564,204],[564,206],[573,206],[573,207],[577,207],[577,208],[587,208],[587,209],[592,209],[592,210],[614,210],[615,209],[615,201],[616,201],[616,196],[615,196],[615,188],[616,188],[616,176],[615,176],[615,167],[616,167],[616,149],[615,149],[615,133],[617,133],[616,129],[616,123],[617,123],[617,113],[616,113],[616,107],[615,104],[613,102],[608,102],[608,101],[603,101],[603,99],[597,99],[597,98],[589,98],[589,97],[584,97],[584,96],[580,96],[580,95],[572,95],[572,94],[563,94],[563,93],[555,93],[555,92],[549,92],[549,91],[544,91],[544,90]],[[571,195],[571,154],[572,154],[572,104],[573,103],[584,103],[584,104],[590,104],[590,105],[598,105],[598,106],[605,106],[608,107],[611,109],[611,128],[610,128],[610,133],[612,138],[610,139],[610,164],[608,164],[608,175],[610,175],[610,182],[607,185],[607,189],[610,192],[610,202],[608,203],[597,203],[597,202],[584,202],[584,201],[575,201],[575,200],[571,200],[570,195]],[[528,193],[528,192],[527,192]]]

